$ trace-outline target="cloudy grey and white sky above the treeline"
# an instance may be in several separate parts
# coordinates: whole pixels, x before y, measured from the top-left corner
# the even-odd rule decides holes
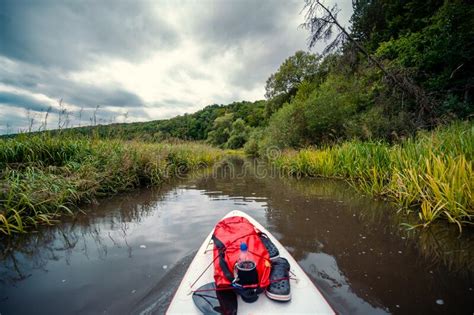
[[[348,26],[351,1],[337,2]],[[263,99],[270,74],[308,50],[302,9],[283,0],[1,0],[0,134]]]

